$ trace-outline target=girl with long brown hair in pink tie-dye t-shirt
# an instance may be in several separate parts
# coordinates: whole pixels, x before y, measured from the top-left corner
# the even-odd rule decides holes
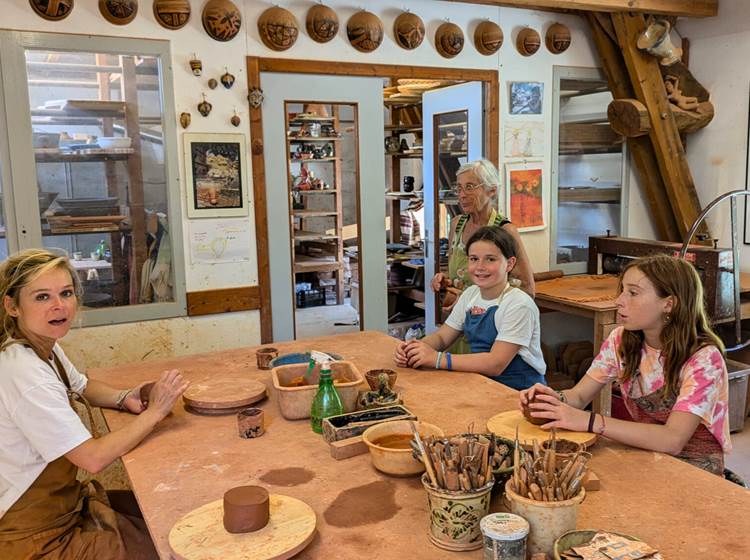
[[[522,391],[520,406],[549,419],[545,429],[596,432],[723,474],[731,449],[729,383],[698,273],[684,260],[645,257],[628,264],[619,291],[622,326],[602,344],[586,375],[566,391],[543,385]],[[611,381],[619,382],[633,421],[582,410]]]

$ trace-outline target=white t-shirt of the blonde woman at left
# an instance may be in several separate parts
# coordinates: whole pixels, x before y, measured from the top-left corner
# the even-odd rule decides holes
[[[54,352],[73,391],[83,392],[86,377],[57,344]],[[50,364],[23,344],[0,352],[0,517],[49,463],[90,438]]]

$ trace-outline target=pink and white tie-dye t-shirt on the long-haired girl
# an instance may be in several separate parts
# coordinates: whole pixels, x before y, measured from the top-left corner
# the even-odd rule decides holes
[[[625,363],[617,351],[622,342],[623,327],[607,337],[591,367],[586,372],[599,383],[622,378]],[[643,345],[641,350],[640,382],[622,383],[623,393],[631,398],[650,395],[664,387],[664,367],[661,350]],[[672,410],[698,416],[721,445],[724,453],[732,449],[729,438],[729,378],[727,366],[716,346],[705,346],[693,354],[680,370],[680,390]]]

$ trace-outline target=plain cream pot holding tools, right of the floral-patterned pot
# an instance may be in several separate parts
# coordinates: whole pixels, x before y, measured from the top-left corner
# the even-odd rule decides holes
[[[510,503],[511,513],[520,515],[529,522],[529,554],[543,552],[552,555],[555,539],[576,528],[578,506],[586,497],[586,490],[569,500],[560,502],[539,502],[516,494],[512,480],[505,483],[505,496]]]

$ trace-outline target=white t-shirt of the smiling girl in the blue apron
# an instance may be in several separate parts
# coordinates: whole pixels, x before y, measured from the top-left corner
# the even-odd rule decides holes
[[[445,324],[457,331],[463,331],[466,311],[472,307],[487,310],[493,305],[498,306],[495,311],[495,340],[518,344],[518,355],[523,361],[544,375],[547,365],[540,345],[539,309],[523,290],[508,290],[498,305],[497,299],[483,299],[479,286],[469,286],[458,298]]]

